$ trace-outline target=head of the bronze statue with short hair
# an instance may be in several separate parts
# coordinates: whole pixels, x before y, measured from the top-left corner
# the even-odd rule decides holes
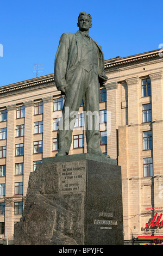
[[[92,17],[89,13],[84,11],[79,14],[77,26],[80,31],[89,31],[92,27]]]

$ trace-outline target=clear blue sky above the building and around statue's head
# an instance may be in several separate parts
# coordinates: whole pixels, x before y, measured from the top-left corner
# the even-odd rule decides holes
[[[52,74],[60,36],[78,30],[80,11],[91,14],[89,34],[105,59],[163,44],[161,1],[0,0],[0,86],[36,77],[34,64],[39,76]]]

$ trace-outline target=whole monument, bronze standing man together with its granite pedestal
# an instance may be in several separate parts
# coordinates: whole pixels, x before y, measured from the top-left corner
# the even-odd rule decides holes
[[[123,245],[121,167],[100,148],[99,85],[108,80],[104,55],[89,36],[90,14],[79,14],[78,27],[77,33],[62,34],[55,57],[55,84],[65,94],[59,151],[30,173],[15,245]],[[91,127],[86,115],[87,153],[68,155],[82,100],[85,111],[95,113]]]

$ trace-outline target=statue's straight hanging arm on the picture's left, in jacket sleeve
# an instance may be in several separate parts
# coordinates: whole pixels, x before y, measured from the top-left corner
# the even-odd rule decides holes
[[[55,56],[55,66],[54,66],[54,81],[58,90],[65,92],[66,84],[66,70],[68,61],[68,49],[69,49],[69,39],[66,33],[61,35],[58,50]]]

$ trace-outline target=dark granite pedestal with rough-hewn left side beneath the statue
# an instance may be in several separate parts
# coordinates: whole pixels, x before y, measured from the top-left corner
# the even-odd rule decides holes
[[[121,167],[90,154],[49,157],[30,173],[15,245],[123,245]]]

